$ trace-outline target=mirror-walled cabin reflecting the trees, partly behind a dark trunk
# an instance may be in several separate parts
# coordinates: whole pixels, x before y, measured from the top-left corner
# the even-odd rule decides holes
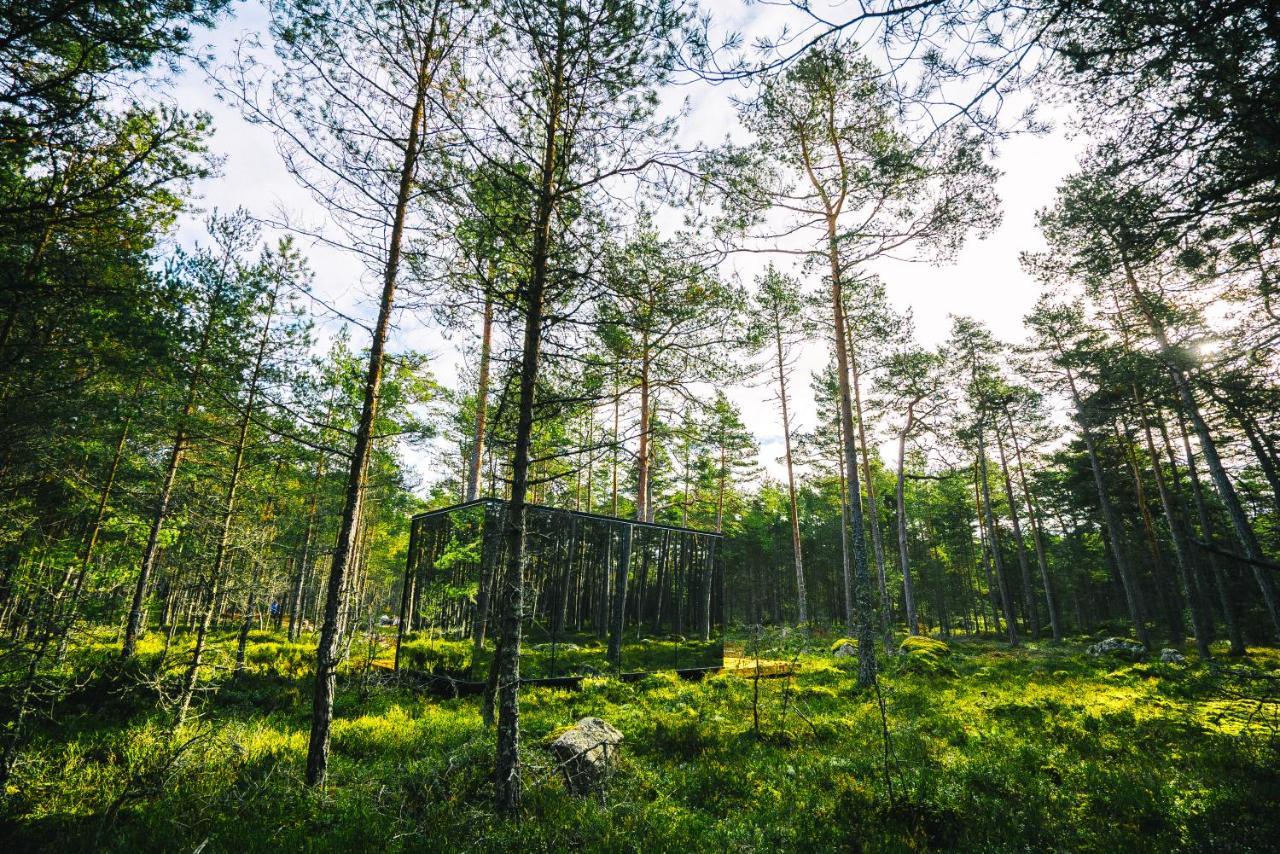
[[[504,512],[480,499],[413,519],[397,667],[486,676]],[[524,677],[722,666],[719,534],[530,506],[525,536]]]

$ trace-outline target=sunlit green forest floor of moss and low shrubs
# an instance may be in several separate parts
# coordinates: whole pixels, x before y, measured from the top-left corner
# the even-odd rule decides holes
[[[879,680],[887,772],[877,693],[856,689],[827,640],[785,652],[791,677],[530,688],[517,823],[490,808],[494,736],[479,699],[396,685],[367,666],[380,650],[353,653],[328,787],[307,790],[314,647],[251,639],[248,670],[232,676],[224,659],[177,736],[157,705],[164,681],[142,677],[159,638],[128,673],[105,643],[76,652],[0,805],[0,849],[1225,851],[1280,840],[1270,648],[1212,665],[1092,658],[1088,639],[897,656]],[[220,647],[229,656],[234,638]],[[626,740],[604,791],[575,798],[547,745],[585,716]]]

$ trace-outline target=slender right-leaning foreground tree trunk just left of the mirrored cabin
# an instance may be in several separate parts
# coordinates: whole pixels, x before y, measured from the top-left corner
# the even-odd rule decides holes
[[[343,499],[342,521],[338,528],[338,542],[334,545],[333,563],[329,568],[324,625],[320,627],[320,643],[316,648],[315,698],[311,707],[311,736],[307,745],[306,782],[308,786],[319,786],[324,782],[325,769],[329,764],[329,731],[333,725],[333,698],[338,682],[338,611],[349,563],[356,557],[356,545],[360,539],[358,528],[364,510],[365,480],[369,471],[369,458],[372,453],[378,398],[383,385],[383,357],[387,348],[387,335],[390,330],[392,309],[396,305],[396,279],[399,274],[401,243],[404,238],[404,219],[408,214],[410,197],[413,191],[413,175],[417,170],[419,134],[421,133],[426,88],[430,85],[429,64],[435,59],[435,27],[436,19],[435,10],[433,9],[431,28],[426,37],[422,56],[419,60],[413,110],[410,114],[408,140],[404,145],[404,160],[399,170],[399,188],[392,219],[387,268],[383,275],[383,294],[379,301],[378,323],[374,325],[372,342],[369,348],[365,399],[360,412],[360,424],[356,428],[356,443],[351,455],[351,470],[347,474],[347,490]]]

